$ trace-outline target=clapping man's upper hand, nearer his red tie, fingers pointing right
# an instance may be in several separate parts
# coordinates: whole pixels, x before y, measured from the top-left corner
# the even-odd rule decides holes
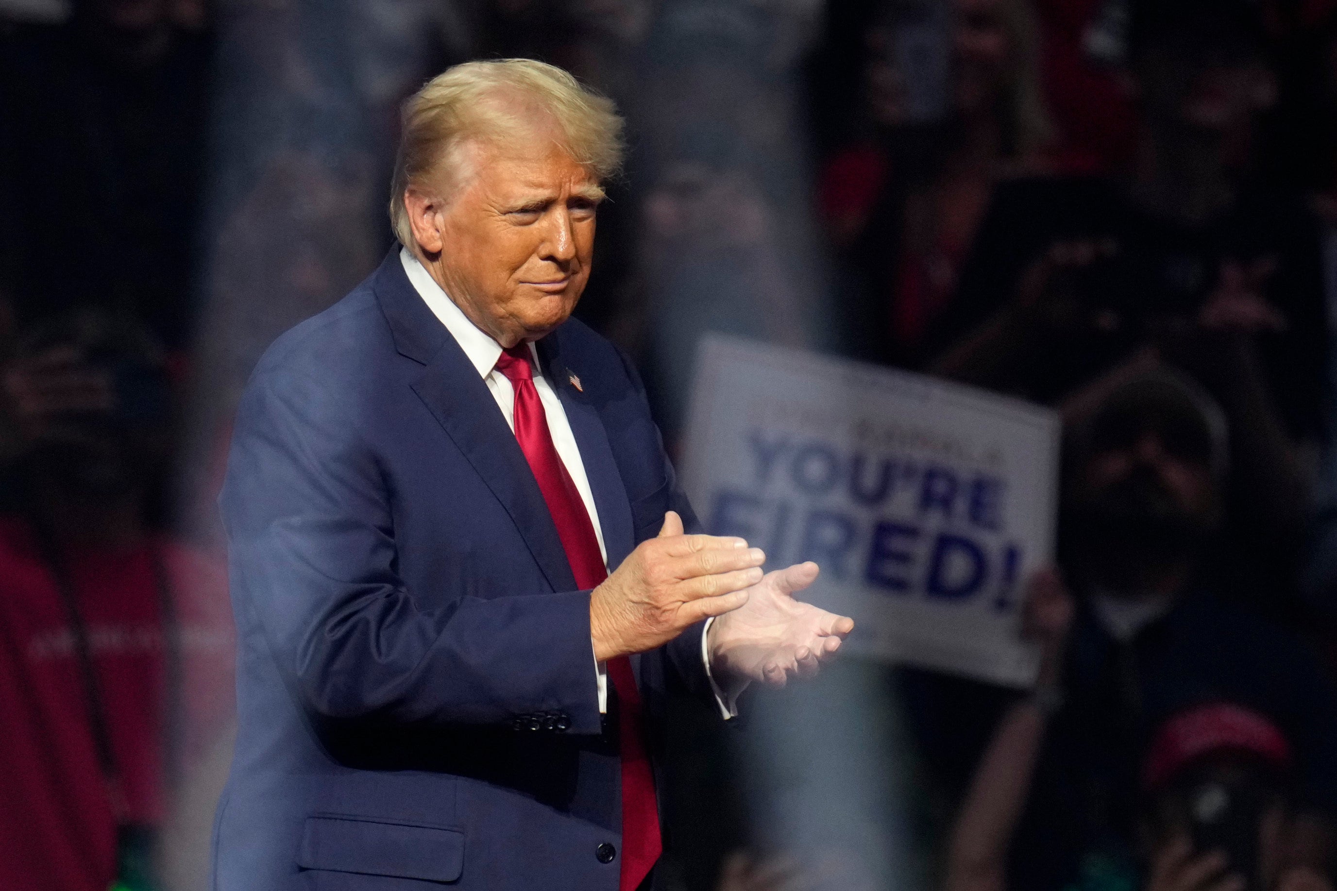
[[[690,625],[747,602],[766,554],[742,538],[685,536],[670,510],[658,538],[640,542],[590,597],[595,659],[643,653]]]

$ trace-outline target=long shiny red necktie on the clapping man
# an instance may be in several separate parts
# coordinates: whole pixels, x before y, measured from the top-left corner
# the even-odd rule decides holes
[[[529,345],[517,343],[504,350],[496,367],[515,387],[515,438],[520,442],[520,450],[524,452],[548,513],[552,514],[576,586],[582,590],[594,588],[608,577],[608,570],[599,553],[599,540],[594,534],[590,513],[552,445],[548,417],[533,386]],[[631,660],[626,656],[610,659],[608,679],[618,692],[618,729],[622,741],[622,864],[618,886],[619,891],[635,891],[659,859],[659,807],[643,736],[640,692],[631,673]]]

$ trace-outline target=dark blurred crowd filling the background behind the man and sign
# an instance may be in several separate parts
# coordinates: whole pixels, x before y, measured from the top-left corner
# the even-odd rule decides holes
[[[0,0],[0,886],[203,887],[230,413],[499,55],[628,119],[578,315],[670,450],[705,331],[1063,417],[1035,688],[874,672],[897,886],[1337,887],[1334,0]],[[880,887],[681,717],[666,887]]]

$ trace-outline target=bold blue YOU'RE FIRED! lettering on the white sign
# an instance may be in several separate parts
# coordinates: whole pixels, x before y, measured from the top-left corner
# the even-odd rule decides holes
[[[749,433],[747,450],[751,482],[714,493],[713,534],[763,546],[770,566],[813,560],[834,581],[1016,608],[1024,561],[1000,541],[1005,480],[765,430]]]

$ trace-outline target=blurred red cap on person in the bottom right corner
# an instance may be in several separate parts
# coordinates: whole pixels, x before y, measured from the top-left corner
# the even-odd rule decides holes
[[[1217,703],[1181,712],[1161,725],[1142,769],[1142,787],[1154,791],[1190,761],[1222,749],[1257,755],[1282,769],[1290,767],[1290,743],[1275,724],[1241,705]]]

